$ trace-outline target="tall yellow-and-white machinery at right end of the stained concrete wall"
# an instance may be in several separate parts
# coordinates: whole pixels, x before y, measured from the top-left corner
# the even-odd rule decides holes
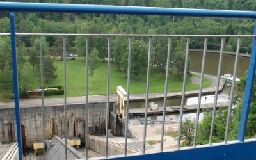
[[[117,87],[117,113],[124,119],[126,117],[127,92],[122,86]]]

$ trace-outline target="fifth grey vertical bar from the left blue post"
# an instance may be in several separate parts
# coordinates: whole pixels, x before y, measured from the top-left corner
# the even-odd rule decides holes
[[[126,119],[125,119],[125,153],[124,153],[125,156],[127,156],[127,131],[128,131],[128,124],[129,124],[131,60],[132,60],[132,37],[129,36],[129,55],[128,55],[128,70],[127,70],[127,102],[126,102]]]

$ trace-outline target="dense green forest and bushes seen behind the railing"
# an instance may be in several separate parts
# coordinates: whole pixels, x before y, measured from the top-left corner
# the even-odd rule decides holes
[[[9,0],[10,1],[10,0]],[[16,0],[15,0],[16,1]],[[104,4],[121,6],[150,6],[150,7],[171,7],[171,8],[202,8],[202,9],[220,9],[220,10],[256,10],[255,0],[31,0],[22,2],[38,3],[68,3],[68,4]],[[252,35],[255,20],[253,19],[227,19],[227,18],[209,18],[209,17],[176,17],[176,16],[147,16],[147,15],[101,15],[84,13],[29,13],[18,12],[16,14],[17,33],[133,33],[133,34],[188,34],[188,35]],[[0,12],[0,33],[10,32],[9,13]],[[32,72],[40,68],[38,58],[38,37],[20,36],[17,37],[17,53],[19,60],[19,78],[20,90],[25,91],[30,88],[33,76]],[[53,47],[62,49],[63,41],[61,37],[47,36],[43,37],[44,55],[49,62],[49,52],[47,48]],[[127,72],[128,40],[127,38],[112,38],[112,60],[120,72]],[[209,38],[208,49],[219,50],[220,38]],[[243,38],[241,43],[241,52],[250,54],[252,40]],[[84,37],[70,36],[67,38],[67,47],[77,49],[78,56],[85,56]],[[176,65],[177,76],[182,77],[184,68],[184,49],[186,39],[175,38],[172,42],[173,65]],[[147,38],[134,38],[132,40],[133,53],[132,60],[132,78],[136,81],[143,81],[143,72],[147,68]],[[154,38],[152,63],[157,65],[159,72],[164,72],[166,66],[167,38]],[[202,49],[204,38],[191,38],[190,47],[193,49]],[[226,38],[226,51],[236,51],[236,38]],[[107,38],[93,37],[90,39],[90,51],[95,53],[100,61],[104,61],[108,52]],[[0,88],[3,91],[3,97],[12,94],[12,67],[10,66],[10,38],[0,37]],[[60,55],[61,56],[61,52]],[[97,58],[96,58],[97,59]],[[95,60],[95,56],[92,56]],[[179,63],[177,63],[179,62]],[[54,68],[52,65],[45,66]],[[56,70],[56,68],[55,68]],[[47,70],[45,71],[47,72]],[[51,73],[49,73],[51,74]],[[51,76],[52,77],[52,76]],[[51,77],[45,81],[52,81]],[[53,75],[54,77],[54,75]],[[47,78],[47,76],[45,77]],[[245,84],[245,80],[241,85]],[[242,85],[242,86],[243,86]],[[243,90],[241,87],[240,90]],[[9,92],[4,92],[9,91]],[[240,95],[243,96],[243,95]],[[253,98],[252,111],[250,113],[250,124],[248,125],[248,136],[255,135],[255,115],[256,105]],[[241,106],[241,103],[239,104]],[[236,139],[239,114],[241,108],[232,111],[234,123],[230,125],[230,139]],[[225,117],[227,109],[219,110],[216,118],[214,130],[214,141],[222,141],[225,132]],[[192,123],[192,122],[191,122]],[[200,124],[200,133],[198,143],[207,143],[209,127],[211,125],[211,111],[205,112],[205,118]],[[204,137],[205,136],[205,137]],[[185,138],[186,140],[186,138]],[[189,141],[189,144],[190,141]]]

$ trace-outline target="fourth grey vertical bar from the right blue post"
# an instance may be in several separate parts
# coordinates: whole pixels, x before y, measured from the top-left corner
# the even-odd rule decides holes
[[[188,58],[189,58],[189,43],[190,38],[187,37],[187,44],[186,44],[186,60],[185,60],[185,67],[184,67],[184,77],[183,77],[183,86],[182,86],[182,96],[181,96],[181,106],[180,106],[180,122],[179,122],[179,135],[178,135],[178,144],[177,148],[180,149],[180,140],[181,140],[181,129],[182,129],[182,118],[183,118],[183,110],[185,105],[185,91],[186,91],[186,79],[187,79],[187,71],[188,71]]]

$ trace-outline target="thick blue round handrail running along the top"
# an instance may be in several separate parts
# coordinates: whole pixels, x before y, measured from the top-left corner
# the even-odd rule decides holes
[[[0,2],[0,10],[25,12],[104,13],[129,15],[177,15],[194,17],[256,18],[256,12],[235,10],[198,10],[140,6],[99,6],[82,4],[12,3]]]

